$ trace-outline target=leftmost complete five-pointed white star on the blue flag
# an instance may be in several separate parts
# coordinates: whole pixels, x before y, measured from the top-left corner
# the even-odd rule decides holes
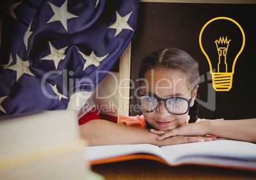
[[[22,59],[20,58],[20,56],[18,56],[18,54],[16,58],[17,58],[17,63],[15,65],[8,67],[11,70],[17,71],[16,82],[18,81],[18,79],[20,79],[20,77],[22,77],[23,74],[28,74],[36,77],[36,75],[32,74],[31,70],[29,69],[29,66],[30,66],[29,61],[22,61]]]

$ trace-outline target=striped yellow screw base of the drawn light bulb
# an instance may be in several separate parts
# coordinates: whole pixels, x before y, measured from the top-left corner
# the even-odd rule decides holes
[[[232,87],[232,72],[211,72],[213,89],[215,91],[229,91]]]

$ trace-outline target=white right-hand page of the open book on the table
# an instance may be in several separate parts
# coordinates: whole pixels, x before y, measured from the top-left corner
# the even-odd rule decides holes
[[[166,161],[178,164],[216,164],[256,168],[256,145],[253,143],[218,139],[202,143],[162,146]]]

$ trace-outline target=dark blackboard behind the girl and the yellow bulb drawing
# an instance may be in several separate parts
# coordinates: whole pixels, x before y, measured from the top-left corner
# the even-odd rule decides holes
[[[207,79],[206,76],[210,67],[199,47],[199,33],[204,24],[218,16],[227,16],[236,20],[243,28],[246,38],[245,48],[236,62],[232,88],[227,92],[215,92],[213,89],[211,79]],[[205,82],[199,84],[200,100],[207,102],[208,92],[215,92],[215,97],[211,97],[216,101],[215,110],[201,106],[199,117],[206,119],[256,117],[256,4],[140,3],[138,18],[132,39],[131,79],[133,81],[138,78],[140,61],[152,51],[162,48],[183,49],[199,61],[199,73],[205,78]],[[226,27],[223,28],[225,30]],[[214,29],[213,33],[215,31]],[[227,36],[229,39],[229,35]],[[235,42],[236,37],[238,41],[241,38],[232,35],[230,43]],[[228,53],[232,53],[234,49],[236,48],[230,47]],[[214,51],[217,51],[216,48]],[[134,96],[134,89],[131,89],[131,96]],[[134,112],[132,108],[134,98],[131,98],[130,103],[130,115],[137,115],[138,112]]]

